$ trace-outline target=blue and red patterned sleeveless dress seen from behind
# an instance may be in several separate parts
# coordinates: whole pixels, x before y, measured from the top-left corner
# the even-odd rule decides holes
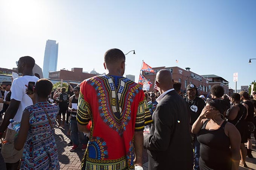
[[[48,102],[39,102],[25,108],[29,111],[29,130],[21,158],[21,169],[59,170],[58,152],[49,119],[54,123],[59,107]]]

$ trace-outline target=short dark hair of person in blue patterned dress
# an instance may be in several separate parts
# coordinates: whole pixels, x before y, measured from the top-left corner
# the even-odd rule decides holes
[[[39,97],[47,98],[52,92],[53,84],[50,80],[46,78],[39,79],[35,84],[36,94]]]

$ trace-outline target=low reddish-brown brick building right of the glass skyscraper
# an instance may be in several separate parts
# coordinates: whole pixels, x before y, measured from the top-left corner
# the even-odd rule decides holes
[[[82,68],[72,68],[71,71],[68,70],[60,70],[49,72],[49,79],[58,79],[58,80],[66,80],[66,81],[78,81],[82,82],[87,78],[91,78],[97,76],[97,74],[90,74],[83,72]]]

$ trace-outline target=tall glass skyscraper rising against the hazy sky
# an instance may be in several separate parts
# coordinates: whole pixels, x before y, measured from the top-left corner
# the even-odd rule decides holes
[[[49,77],[50,71],[56,71],[58,61],[59,43],[55,40],[47,40],[45,46],[45,57],[43,58],[43,78]]]

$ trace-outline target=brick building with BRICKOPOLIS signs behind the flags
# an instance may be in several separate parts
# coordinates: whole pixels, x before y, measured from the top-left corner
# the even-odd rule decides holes
[[[152,82],[154,84],[155,82],[155,78],[156,78],[156,73],[162,69],[167,69],[169,70],[171,73],[173,73],[173,79],[174,81],[178,81],[181,83],[181,92],[182,93],[186,93],[186,88],[188,84],[195,84],[196,87],[198,87],[198,93],[200,95],[205,95],[207,96],[208,94],[208,80],[203,78],[202,76],[191,72],[190,68],[186,68],[186,70],[183,70],[179,67],[157,67],[157,68],[153,68],[154,69],[154,73],[152,72],[142,72],[142,75],[148,79],[150,82]],[[149,91],[153,91],[153,86],[150,87]]]

